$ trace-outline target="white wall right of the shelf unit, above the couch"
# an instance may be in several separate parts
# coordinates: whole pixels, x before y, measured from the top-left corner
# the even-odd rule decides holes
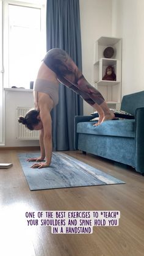
[[[113,0],[112,7],[112,35],[123,40],[123,96],[144,90],[144,1]]]

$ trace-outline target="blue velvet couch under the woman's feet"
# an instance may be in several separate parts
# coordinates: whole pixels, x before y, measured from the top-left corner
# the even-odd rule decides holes
[[[144,175],[144,91],[125,95],[121,110],[135,119],[109,120],[93,126],[92,115],[77,115],[75,148],[128,164]]]

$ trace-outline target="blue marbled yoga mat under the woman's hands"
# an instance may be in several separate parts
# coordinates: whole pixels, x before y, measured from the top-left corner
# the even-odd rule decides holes
[[[31,190],[124,184],[65,153],[53,152],[51,166],[42,169],[33,169],[34,162],[26,161],[40,156],[40,153],[20,153],[18,156]]]

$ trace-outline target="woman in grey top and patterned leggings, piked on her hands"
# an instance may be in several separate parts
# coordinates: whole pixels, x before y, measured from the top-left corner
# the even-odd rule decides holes
[[[51,110],[59,101],[59,82],[81,95],[93,108],[98,111],[99,120],[96,125],[111,120],[114,114],[110,112],[101,93],[92,87],[74,64],[73,60],[62,49],[51,49],[46,54],[38,70],[34,86],[35,109],[20,117],[19,122],[30,130],[40,130],[39,158],[30,158],[28,161],[43,161],[36,163],[32,168],[48,167],[52,156]]]

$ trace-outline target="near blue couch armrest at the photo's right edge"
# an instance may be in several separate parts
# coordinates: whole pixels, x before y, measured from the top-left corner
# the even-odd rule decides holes
[[[144,108],[135,110],[135,169],[144,174]]]

